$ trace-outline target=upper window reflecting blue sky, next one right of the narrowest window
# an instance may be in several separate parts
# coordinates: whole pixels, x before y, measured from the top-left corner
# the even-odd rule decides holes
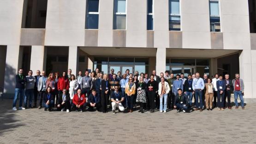
[[[169,30],[180,31],[179,0],[169,0]]]

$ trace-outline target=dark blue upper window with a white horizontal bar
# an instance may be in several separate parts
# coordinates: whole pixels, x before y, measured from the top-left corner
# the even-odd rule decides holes
[[[87,1],[86,29],[99,27],[99,0]]]

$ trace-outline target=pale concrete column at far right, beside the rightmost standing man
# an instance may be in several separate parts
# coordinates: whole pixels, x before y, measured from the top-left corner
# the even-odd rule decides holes
[[[252,93],[252,80],[254,76],[252,75],[251,50],[243,50],[240,53],[239,73],[240,78],[244,80],[244,102],[250,103],[255,101],[255,96]]]

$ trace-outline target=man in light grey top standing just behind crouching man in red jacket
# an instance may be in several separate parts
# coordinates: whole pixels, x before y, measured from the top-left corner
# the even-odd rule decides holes
[[[82,78],[81,81],[81,87],[82,87],[82,93],[89,97],[90,91],[92,90],[92,78],[89,77],[89,71],[85,71],[85,76]]]

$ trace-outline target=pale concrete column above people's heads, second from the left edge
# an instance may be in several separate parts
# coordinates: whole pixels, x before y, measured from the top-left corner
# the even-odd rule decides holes
[[[47,48],[44,46],[31,46],[30,69],[36,75],[36,70],[46,70]]]

